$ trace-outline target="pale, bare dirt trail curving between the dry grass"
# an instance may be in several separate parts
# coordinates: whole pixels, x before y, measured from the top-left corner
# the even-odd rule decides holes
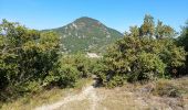
[[[35,108],[35,110],[56,110],[72,102],[79,102],[82,100],[87,100],[90,102],[90,110],[96,110],[97,106],[97,96],[94,86],[87,86],[83,88],[82,92],[73,96],[67,96],[63,100],[54,102],[52,105],[44,105],[42,107]]]

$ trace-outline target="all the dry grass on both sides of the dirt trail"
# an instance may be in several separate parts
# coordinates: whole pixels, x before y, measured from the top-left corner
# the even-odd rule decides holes
[[[91,79],[79,81],[77,88],[54,88],[50,91],[35,95],[29,100],[22,98],[12,103],[4,105],[2,109],[30,110],[33,107],[42,106],[43,103],[53,103],[70,95],[80,94],[83,86],[86,84],[91,84]],[[166,90],[166,87],[168,86],[175,87],[180,96],[160,96],[160,90]],[[95,110],[188,110],[188,77],[171,80],[159,79],[145,85],[126,84],[123,87],[113,89],[101,87],[95,88],[95,91],[97,96]],[[168,89],[165,94],[166,92],[168,94]],[[58,110],[91,110],[91,102],[90,99],[71,101],[63,105]]]

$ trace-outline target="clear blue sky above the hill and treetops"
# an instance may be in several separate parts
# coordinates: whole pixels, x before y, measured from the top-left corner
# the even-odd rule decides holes
[[[130,25],[140,25],[149,13],[180,31],[188,20],[187,6],[188,0],[0,0],[0,20],[42,30],[90,16],[124,32]]]

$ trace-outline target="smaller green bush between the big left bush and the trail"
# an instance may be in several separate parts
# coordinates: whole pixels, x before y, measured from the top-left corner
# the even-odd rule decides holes
[[[92,76],[95,59],[83,54],[62,55],[58,70],[52,70],[44,78],[44,87],[74,87],[79,78]]]

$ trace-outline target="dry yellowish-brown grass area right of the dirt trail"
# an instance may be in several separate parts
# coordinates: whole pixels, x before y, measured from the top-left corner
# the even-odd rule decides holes
[[[159,96],[160,91],[156,91],[159,86],[164,89],[176,87],[180,96]],[[160,79],[145,85],[126,84],[114,89],[98,88],[97,91],[101,97],[97,110],[188,110],[188,77]]]

